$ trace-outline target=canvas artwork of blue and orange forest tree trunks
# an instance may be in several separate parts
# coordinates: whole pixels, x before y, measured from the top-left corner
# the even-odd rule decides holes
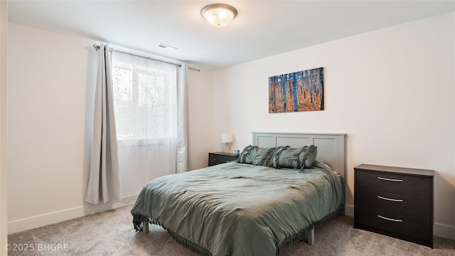
[[[269,113],[324,110],[323,68],[269,77]]]

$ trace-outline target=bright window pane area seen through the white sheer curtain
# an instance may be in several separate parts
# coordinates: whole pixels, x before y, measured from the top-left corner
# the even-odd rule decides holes
[[[176,137],[176,66],[114,52],[117,138]]]

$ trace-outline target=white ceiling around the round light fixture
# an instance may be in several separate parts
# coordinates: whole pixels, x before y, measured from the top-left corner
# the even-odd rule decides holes
[[[238,11],[227,26],[200,16],[217,2]],[[217,69],[444,14],[455,1],[9,0],[8,6],[14,23]]]

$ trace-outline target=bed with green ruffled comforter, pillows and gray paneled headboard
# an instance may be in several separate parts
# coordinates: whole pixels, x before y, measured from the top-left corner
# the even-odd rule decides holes
[[[149,181],[131,211],[135,230],[161,225],[201,255],[279,255],[305,237],[312,244],[314,228],[344,212],[345,134],[253,132],[252,142],[239,162]],[[306,153],[289,154],[297,149]],[[247,158],[248,150],[263,154]],[[296,156],[292,166],[286,154]]]

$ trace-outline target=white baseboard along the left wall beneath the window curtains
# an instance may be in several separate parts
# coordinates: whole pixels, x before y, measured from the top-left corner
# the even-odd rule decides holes
[[[14,234],[23,230],[43,227],[45,225],[60,223],[65,220],[80,218],[93,213],[100,213],[105,210],[112,210],[123,206],[129,206],[136,201],[137,195],[122,198],[122,201],[114,203],[100,203],[98,205],[85,204],[83,206],[58,210],[53,213],[45,213],[21,220],[13,220],[8,223],[8,234]]]

